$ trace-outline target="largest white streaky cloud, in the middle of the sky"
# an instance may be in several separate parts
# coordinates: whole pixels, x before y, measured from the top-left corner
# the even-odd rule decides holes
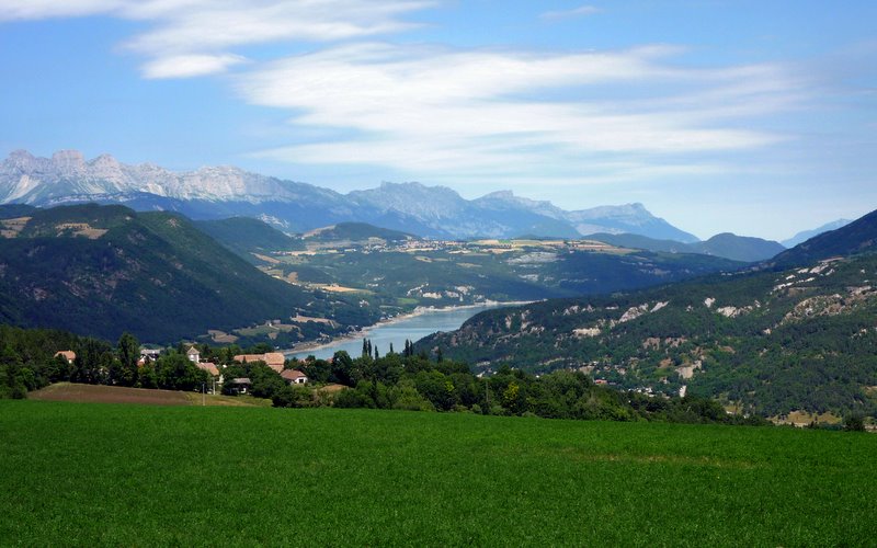
[[[554,163],[581,179],[602,178],[595,158],[706,155],[783,139],[730,126],[763,112],[761,105],[788,107],[793,79],[772,66],[679,68],[669,62],[677,52],[535,55],[354,44],[259,67],[239,89],[253,104],[294,113],[296,126],[338,129],[331,140],[265,157],[385,165],[431,180],[532,179]],[[606,84],[646,91],[618,100]],[[559,99],[546,100],[551,93]],[[696,162],[672,169],[702,172]]]

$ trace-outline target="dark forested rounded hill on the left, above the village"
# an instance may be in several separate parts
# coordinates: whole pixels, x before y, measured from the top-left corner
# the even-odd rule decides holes
[[[3,322],[110,340],[129,331],[170,342],[301,310],[361,313],[264,275],[182,216],[122,206],[36,210],[0,240],[0,265]]]

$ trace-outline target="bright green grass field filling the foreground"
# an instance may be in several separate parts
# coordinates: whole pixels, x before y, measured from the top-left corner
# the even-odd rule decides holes
[[[0,401],[0,544],[872,545],[877,436]]]

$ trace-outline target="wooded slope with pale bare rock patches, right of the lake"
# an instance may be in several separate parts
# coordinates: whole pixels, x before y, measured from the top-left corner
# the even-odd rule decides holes
[[[877,255],[482,312],[419,349],[762,415],[877,411]]]

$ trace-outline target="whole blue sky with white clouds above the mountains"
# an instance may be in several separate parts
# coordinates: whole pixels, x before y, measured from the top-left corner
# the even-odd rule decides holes
[[[0,155],[785,239],[877,209],[877,2],[0,0]]]

